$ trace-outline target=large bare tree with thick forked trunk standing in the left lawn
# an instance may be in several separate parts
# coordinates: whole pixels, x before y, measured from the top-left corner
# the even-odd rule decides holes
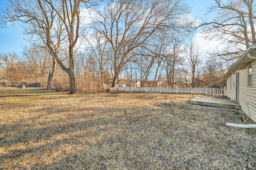
[[[74,75],[74,49],[80,27],[80,4],[85,0],[8,0],[2,13],[2,24],[22,21],[27,35],[37,35],[54,58],[53,62],[68,74],[70,94],[76,93]],[[64,42],[63,42],[64,41]],[[61,45],[68,46],[68,67],[58,57]],[[54,66],[54,64],[53,64]]]

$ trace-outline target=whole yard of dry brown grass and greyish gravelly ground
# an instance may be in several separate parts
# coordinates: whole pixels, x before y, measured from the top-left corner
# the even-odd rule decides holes
[[[0,88],[0,170],[256,169],[256,129],[196,96]]]

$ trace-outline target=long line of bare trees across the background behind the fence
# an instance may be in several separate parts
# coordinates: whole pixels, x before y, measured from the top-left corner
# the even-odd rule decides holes
[[[230,63],[255,41],[254,27],[247,29],[254,23],[252,0],[215,0],[209,12],[216,18],[200,24],[185,0],[8,2],[1,25],[20,22],[31,45],[19,55],[0,53],[0,79],[40,81],[70,94],[130,86],[133,80],[140,86],[208,86],[223,79]],[[217,37],[227,46],[202,56],[193,38],[196,27],[204,28],[206,39]]]

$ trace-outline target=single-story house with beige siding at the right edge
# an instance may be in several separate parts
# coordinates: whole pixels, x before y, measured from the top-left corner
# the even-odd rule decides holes
[[[228,98],[236,100],[247,115],[249,107],[251,119],[256,122],[256,44],[242,54],[225,77]]]

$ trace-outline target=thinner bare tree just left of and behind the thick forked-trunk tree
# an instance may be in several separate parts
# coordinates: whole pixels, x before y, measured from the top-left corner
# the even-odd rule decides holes
[[[45,1],[8,0],[9,4],[2,11],[1,24],[21,21],[24,24],[24,33],[28,41],[38,48],[49,50],[50,55],[58,55],[60,43],[64,39],[63,23],[52,8]],[[15,12],[13,12],[15,11]],[[35,38],[35,36],[37,38]],[[42,45],[44,44],[44,45]],[[47,88],[51,89],[52,78],[56,68],[56,61],[52,60],[52,69],[49,71]]]

